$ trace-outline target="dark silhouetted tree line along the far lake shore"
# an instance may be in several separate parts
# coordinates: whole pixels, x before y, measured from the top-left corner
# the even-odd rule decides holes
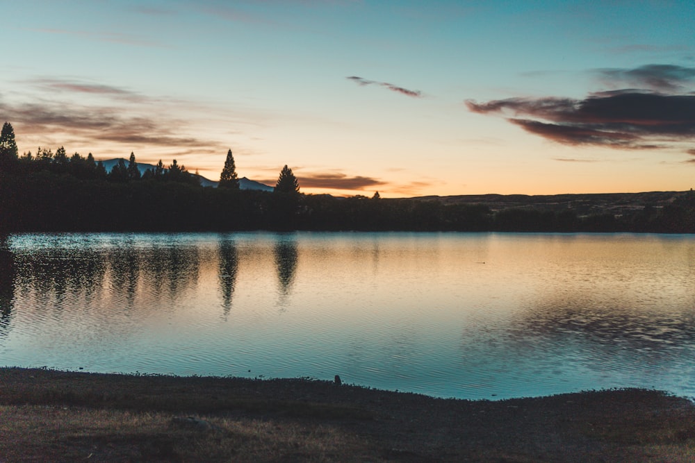
[[[0,135],[0,231],[416,230],[695,233],[695,194],[621,215],[574,210],[302,194],[287,165],[272,192],[240,190],[231,149],[217,188],[176,160],[140,174],[135,155],[111,171],[92,154],[38,149],[18,155]]]

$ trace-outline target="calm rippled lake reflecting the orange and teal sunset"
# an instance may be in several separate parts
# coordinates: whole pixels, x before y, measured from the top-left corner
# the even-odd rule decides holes
[[[695,237],[13,235],[0,364],[695,396]]]

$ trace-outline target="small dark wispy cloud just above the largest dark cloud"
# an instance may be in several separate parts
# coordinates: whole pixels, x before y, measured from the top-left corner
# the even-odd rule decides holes
[[[644,65],[635,69],[599,69],[604,79],[628,83],[637,88],[657,92],[679,92],[689,83],[695,83],[695,67],[676,65]]]

